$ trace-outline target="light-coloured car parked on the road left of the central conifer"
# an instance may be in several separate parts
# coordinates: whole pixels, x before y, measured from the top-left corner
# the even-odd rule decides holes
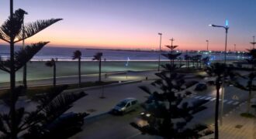
[[[112,109],[113,114],[126,114],[132,110],[135,110],[139,107],[139,101],[135,98],[126,98],[121,100],[116,106]]]

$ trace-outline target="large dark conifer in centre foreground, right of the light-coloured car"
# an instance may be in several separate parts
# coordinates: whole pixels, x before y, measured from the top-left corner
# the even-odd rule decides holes
[[[144,134],[154,134],[164,138],[199,138],[202,136],[199,131],[206,129],[206,126],[200,125],[192,128],[185,126],[192,120],[192,114],[206,108],[202,107],[202,104],[207,100],[194,103],[192,106],[189,106],[187,102],[182,103],[185,95],[181,91],[185,89],[182,87],[185,84],[185,79],[184,75],[176,72],[178,66],[173,63],[181,53],[173,53],[175,48],[168,48],[171,49],[171,52],[163,54],[163,56],[170,59],[171,63],[163,65],[164,70],[155,73],[160,79],[151,83],[160,90],[151,92],[147,86],[140,86],[141,90],[150,94],[147,103],[144,104],[145,113],[150,114],[150,117],[144,118],[148,125],[144,127],[139,127],[135,123],[131,123],[131,125]],[[166,101],[168,106],[162,104]]]

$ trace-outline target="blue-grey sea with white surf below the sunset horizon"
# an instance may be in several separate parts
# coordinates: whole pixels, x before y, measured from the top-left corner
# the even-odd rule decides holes
[[[21,46],[15,46],[15,51],[22,49]],[[143,50],[122,50],[122,49],[86,49],[75,47],[54,47],[44,46],[31,61],[47,61],[50,59],[57,59],[58,61],[72,61],[72,56],[75,50],[80,50],[82,53],[82,61],[92,61],[93,56],[96,53],[102,53],[102,60],[104,61],[157,61],[159,51],[143,51]],[[161,53],[168,53],[166,51]],[[175,51],[175,53],[180,53]],[[182,59],[184,55],[189,56],[202,55],[202,57],[209,56],[210,60],[222,60],[224,59],[223,53],[209,53],[206,51],[186,51],[180,56]],[[9,58],[9,46],[0,45],[0,56],[2,59]],[[247,59],[247,56],[243,53],[229,53],[227,55],[228,60],[240,60]],[[168,60],[166,57],[161,56],[161,60]]]

